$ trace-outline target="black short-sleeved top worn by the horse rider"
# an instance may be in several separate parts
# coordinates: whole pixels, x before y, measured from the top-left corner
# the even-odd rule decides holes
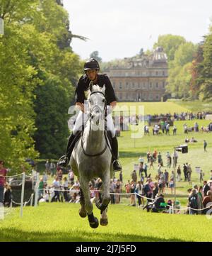
[[[88,91],[89,91],[90,79],[84,74],[78,81],[75,91],[75,101],[84,103],[86,99],[88,99]],[[107,101],[107,105],[110,105],[112,101],[117,101],[117,98],[114,94],[114,89],[112,88],[112,84],[110,82],[109,77],[106,74],[98,74],[98,81],[96,82],[99,87],[103,87],[105,84],[105,99]]]

